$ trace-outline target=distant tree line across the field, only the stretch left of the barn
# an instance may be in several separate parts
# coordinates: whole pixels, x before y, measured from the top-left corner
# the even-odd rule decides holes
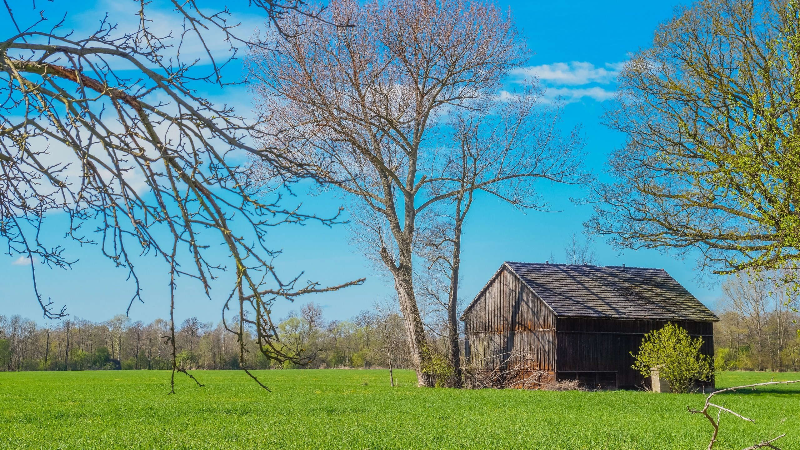
[[[238,323],[229,323],[229,327]],[[306,303],[276,327],[282,343],[306,356],[306,364],[267,360],[246,334],[246,368],[406,367],[402,319],[394,312],[362,311],[350,320],[326,320],[322,307]],[[106,322],[66,318],[42,325],[19,315],[0,315],[0,371],[138,370],[172,368],[170,323]],[[238,369],[237,336],[222,323],[183,321],[175,329],[178,366]]]

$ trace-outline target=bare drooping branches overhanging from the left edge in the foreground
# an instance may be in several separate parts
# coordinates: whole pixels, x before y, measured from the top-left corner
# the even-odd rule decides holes
[[[263,118],[238,115],[204,94],[231,84],[223,74],[240,46],[266,51],[274,42],[244,38],[254,31],[238,27],[224,7],[210,13],[194,1],[126,5],[127,14],[101,14],[95,26],[69,14],[53,21],[36,6],[12,10],[6,2],[15,26],[0,42],[0,82],[7,86],[0,105],[0,236],[7,253],[29,258],[32,271],[34,259],[70,267],[58,239],[44,239],[53,233],[40,234],[46,217],[61,213],[69,217],[69,238],[97,244],[129,271],[131,303],[142,299],[133,255],[155,255],[169,267],[172,308],[179,276],[198,280],[210,296],[210,280],[232,269],[226,309],[234,300],[242,318],[230,330],[240,337],[242,358],[246,328],[266,356],[297,358],[274,344],[271,303],[338,287],[278,275],[267,231],[317,218],[281,207],[262,175],[266,170],[280,187],[317,171],[281,149],[250,145]],[[302,7],[297,1],[249,5],[275,26],[289,16],[316,16],[292,14]],[[278,28],[271,40],[281,34]],[[262,162],[258,180],[242,164],[246,155]],[[220,242],[230,257],[211,250]],[[46,317],[66,314],[35,295]],[[174,344],[174,323],[170,339]]]

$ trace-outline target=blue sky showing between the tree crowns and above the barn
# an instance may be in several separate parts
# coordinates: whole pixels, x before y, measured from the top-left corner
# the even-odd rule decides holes
[[[622,143],[622,136],[599,123],[604,101],[614,93],[614,74],[629,52],[647,46],[659,22],[670,18],[680,2],[501,2],[512,10],[533,51],[526,70],[538,74],[554,94],[570,103],[566,106],[569,128],[583,126],[589,152],[588,166],[602,175],[606,155]],[[77,4],[77,3],[76,3]],[[83,6],[74,14],[90,14],[102,10],[102,3]],[[235,92],[246,96],[243,90]],[[249,98],[237,98],[248,104]],[[483,198],[471,211],[464,235],[462,256],[462,289],[466,298],[474,295],[506,260],[539,262],[563,260],[563,247],[573,232],[582,231],[582,223],[590,215],[590,207],[575,205],[570,197],[580,197],[582,187],[542,186],[542,195],[552,212],[522,214],[493,199]],[[302,202],[310,211],[322,214],[338,209],[344,199],[333,195],[300,195],[292,201]],[[51,220],[58,223],[58,217]],[[54,230],[55,227],[50,228]],[[55,233],[55,231],[53,231]],[[58,232],[59,236],[60,231]],[[58,239],[56,237],[55,239]],[[315,301],[326,308],[328,319],[347,319],[376,300],[389,298],[388,280],[378,275],[363,255],[354,252],[347,241],[345,227],[279,227],[270,233],[272,247],[284,253],[278,267],[287,275],[306,271],[304,278],[322,283],[341,283],[367,277],[364,285],[300,300]],[[594,243],[602,265],[662,267],[683,283],[704,303],[713,305],[718,296],[714,275],[695,270],[694,259],[680,260],[657,251],[614,251],[602,241]],[[74,259],[80,259],[71,271],[54,270],[37,265],[40,290],[55,303],[66,303],[71,315],[104,320],[124,313],[132,287],[126,282],[126,271],[114,269],[92,247],[70,247]],[[166,267],[155,259],[139,264],[145,291],[144,304],[136,303],[130,311],[134,320],[150,321],[168,315]],[[220,318],[226,288],[206,299],[194,283],[182,283],[176,319],[197,316],[205,322]],[[282,301],[274,307],[278,317],[299,307]],[[30,283],[30,266],[17,257],[0,256],[0,314],[19,314],[41,319]]]

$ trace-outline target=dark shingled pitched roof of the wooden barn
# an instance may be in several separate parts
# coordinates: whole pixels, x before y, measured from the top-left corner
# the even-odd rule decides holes
[[[503,267],[522,279],[559,317],[719,320],[663,269],[513,262]]]

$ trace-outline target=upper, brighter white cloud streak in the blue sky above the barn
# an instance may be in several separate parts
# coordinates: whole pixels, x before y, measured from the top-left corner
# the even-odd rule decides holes
[[[595,67],[591,62],[554,62],[541,66],[521,67],[513,74],[534,76],[554,86],[581,86],[592,82],[614,82],[625,62],[609,62],[605,67]]]

